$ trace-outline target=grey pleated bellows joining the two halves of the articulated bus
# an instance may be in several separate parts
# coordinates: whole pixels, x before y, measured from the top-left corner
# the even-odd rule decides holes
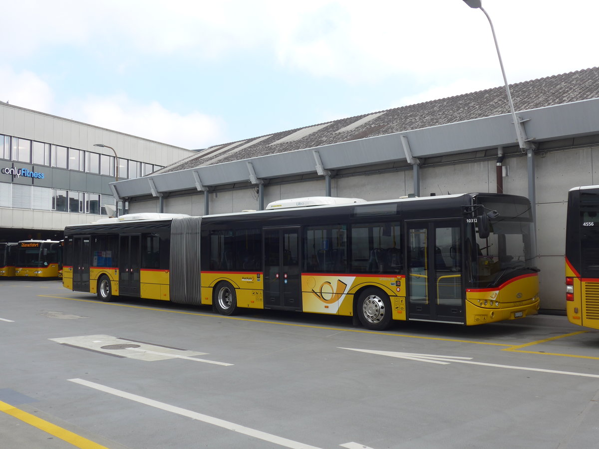
[[[171,225],[170,299],[179,304],[202,304],[199,281],[199,224],[201,217],[173,219]]]

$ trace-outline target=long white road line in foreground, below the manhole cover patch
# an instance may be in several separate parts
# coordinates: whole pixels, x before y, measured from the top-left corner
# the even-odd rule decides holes
[[[233,432],[243,433],[243,435],[252,436],[253,438],[262,439],[264,441],[278,444],[283,447],[289,447],[292,449],[319,449],[315,446],[303,444],[298,441],[293,441],[292,439],[282,438],[281,436],[273,435],[267,432],[261,432],[260,430],[256,429],[250,429],[250,427],[240,426],[239,424],[231,423],[231,421],[225,421],[219,418],[214,418],[212,416],[197,413],[174,405],[165,404],[164,402],[154,401],[153,399],[144,398],[143,396],[133,395],[132,393],[123,392],[122,390],[116,390],[111,387],[96,384],[95,382],[90,382],[83,379],[68,380],[76,384],[99,390],[104,393],[109,393],[110,395],[119,396],[120,398],[129,399],[130,401],[139,402],[140,404],[149,405],[171,413],[176,413],[178,415],[202,421],[207,424],[213,424],[214,426],[223,427],[223,429],[232,430]]]

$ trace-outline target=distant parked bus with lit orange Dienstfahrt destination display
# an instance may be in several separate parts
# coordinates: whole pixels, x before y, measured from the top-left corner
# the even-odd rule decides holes
[[[17,244],[17,277],[58,278],[62,269],[62,247],[52,240],[22,240]]]

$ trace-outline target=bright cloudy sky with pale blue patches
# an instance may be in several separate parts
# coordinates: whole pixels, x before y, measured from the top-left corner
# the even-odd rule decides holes
[[[510,83],[599,65],[597,0],[482,0]],[[0,101],[184,148],[503,86],[462,0],[20,0]]]

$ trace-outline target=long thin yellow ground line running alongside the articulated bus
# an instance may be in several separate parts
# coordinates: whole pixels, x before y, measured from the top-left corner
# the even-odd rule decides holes
[[[356,332],[356,333],[372,333],[374,335],[386,335],[386,336],[398,336],[405,338],[419,338],[424,340],[435,340],[435,341],[448,341],[453,343],[471,343],[478,345],[489,345],[489,346],[507,346],[512,347],[511,344],[506,343],[490,343],[486,341],[472,341],[472,340],[458,340],[455,338],[441,338],[441,337],[429,337],[422,335],[406,335],[401,333],[389,333],[389,332],[381,332],[380,330],[362,330],[362,329],[338,329],[337,327],[326,327],[326,326],[311,326],[310,324],[296,324],[296,323],[281,323],[279,321],[264,321],[257,320],[255,318],[241,318],[241,317],[228,317],[225,315],[214,315],[214,314],[206,314],[206,313],[198,313],[198,312],[185,312],[181,310],[165,310],[159,309],[155,307],[146,307],[140,305],[129,305],[129,304],[117,304],[115,302],[99,302],[96,299],[80,299],[80,298],[67,298],[66,296],[53,296],[53,295],[38,295],[43,298],[57,298],[57,299],[71,299],[72,301],[81,301],[81,302],[92,302],[93,304],[104,304],[104,305],[113,305],[117,307],[131,307],[134,309],[143,309],[143,310],[153,310],[157,312],[164,313],[179,313],[183,315],[196,315],[199,317],[211,317],[211,318],[219,318],[223,320],[237,320],[237,321],[250,321],[252,323],[261,323],[261,324],[277,324],[279,326],[294,326],[294,327],[307,327],[308,329],[323,329],[323,330],[336,330],[337,332]]]

